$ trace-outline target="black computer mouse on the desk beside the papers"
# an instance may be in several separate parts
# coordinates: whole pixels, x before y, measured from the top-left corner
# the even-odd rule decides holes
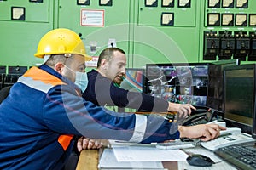
[[[210,167],[214,163],[211,158],[201,154],[192,154],[187,157],[187,161],[189,165],[197,167]]]

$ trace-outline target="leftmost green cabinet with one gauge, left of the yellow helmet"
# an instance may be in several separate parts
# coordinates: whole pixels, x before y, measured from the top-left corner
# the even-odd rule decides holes
[[[32,66],[40,38],[53,29],[54,1],[0,1],[0,63]]]

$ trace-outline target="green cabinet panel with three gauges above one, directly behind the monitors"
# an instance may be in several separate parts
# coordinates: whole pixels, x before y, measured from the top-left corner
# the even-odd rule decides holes
[[[199,61],[199,1],[136,0],[134,6],[134,67]]]

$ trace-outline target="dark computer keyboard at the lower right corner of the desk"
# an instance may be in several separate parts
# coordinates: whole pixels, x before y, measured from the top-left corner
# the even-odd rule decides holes
[[[214,153],[238,169],[256,169],[256,147],[252,144],[226,146]]]

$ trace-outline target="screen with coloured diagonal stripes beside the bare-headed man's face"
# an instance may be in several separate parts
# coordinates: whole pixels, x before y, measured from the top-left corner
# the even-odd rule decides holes
[[[145,70],[141,68],[126,68],[126,77],[120,88],[130,91],[143,92]]]

